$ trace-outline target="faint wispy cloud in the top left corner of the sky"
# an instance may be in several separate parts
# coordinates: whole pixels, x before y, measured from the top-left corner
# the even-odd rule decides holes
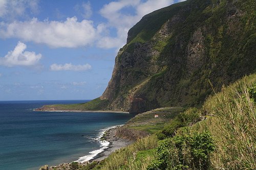
[[[13,20],[18,17],[27,17],[30,13],[38,13],[38,0],[0,0],[0,17]]]

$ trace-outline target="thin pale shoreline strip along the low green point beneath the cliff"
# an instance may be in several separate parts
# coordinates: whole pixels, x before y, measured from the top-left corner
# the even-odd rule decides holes
[[[33,111],[40,111],[40,112],[81,112],[81,113],[130,113],[126,111],[116,111],[116,110],[54,110],[54,109],[47,109],[44,110],[42,108],[33,109]]]

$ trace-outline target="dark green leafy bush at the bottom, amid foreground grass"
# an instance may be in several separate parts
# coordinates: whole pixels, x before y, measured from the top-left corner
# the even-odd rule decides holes
[[[157,159],[147,170],[156,169],[208,169],[209,155],[215,150],[214,141],[208,132],[193,136],[179,136],[159,141]]]

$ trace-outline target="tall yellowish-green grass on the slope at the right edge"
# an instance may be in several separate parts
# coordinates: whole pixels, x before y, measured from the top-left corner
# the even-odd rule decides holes
[[[256,169],[256,106],[248,92],[255,84],[256,74],[253,74],[223,87],[203,105],[203,111],[211,117],[177,132],[209,130],[217,147],[211,156],[214,169]]]

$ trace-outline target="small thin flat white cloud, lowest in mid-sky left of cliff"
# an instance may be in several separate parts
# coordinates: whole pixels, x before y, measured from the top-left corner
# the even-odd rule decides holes
[[[61,70],[84,71],[84,70],[89,70],[91,68],[92,66],[90,64],[73,65],[71,63],[66,63],[64,65],[52,64],[50,66],[50,70],[52,71],[61,71]]]

